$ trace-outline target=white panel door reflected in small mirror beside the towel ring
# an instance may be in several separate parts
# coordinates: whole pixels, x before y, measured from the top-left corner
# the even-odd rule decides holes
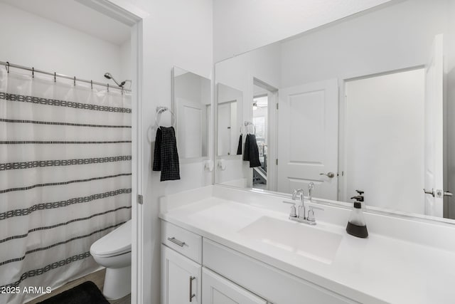
[[[202,157],[205,105],[177,98],[177,148],[181,158]]]

